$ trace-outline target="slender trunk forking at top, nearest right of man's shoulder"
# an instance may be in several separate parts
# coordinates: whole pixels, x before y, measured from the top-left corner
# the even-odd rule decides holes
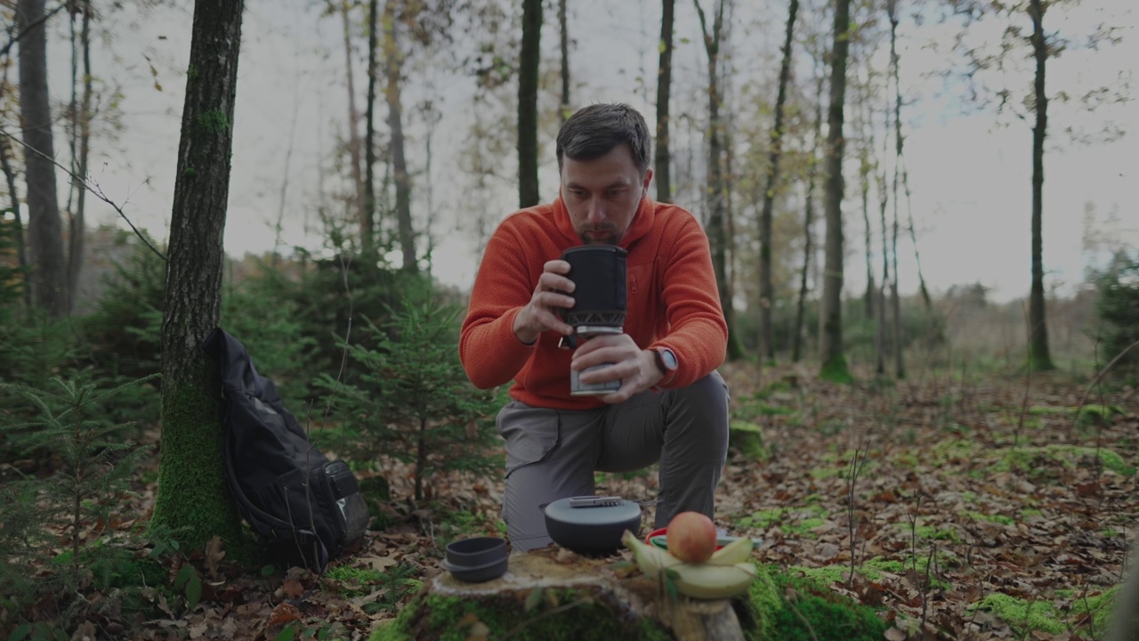
[[[728,211],[724,202],[723,145],[720,122],[720,56],[721,34],[723,33],[723,8],[727,0],[719,0],[716,15],[708,33],[704,9],[699,0],[694,0],[700,17],[700,29],[704,33],[704,49],[708,56],[708,245],[712,250],[712,269],[715,273],[716,287],[720,293],[720,307],[728,323],[728,360],[743,356],[739,346],[739,327],[736,324],[736,311],[731,302],[731,286],[728,278]]]

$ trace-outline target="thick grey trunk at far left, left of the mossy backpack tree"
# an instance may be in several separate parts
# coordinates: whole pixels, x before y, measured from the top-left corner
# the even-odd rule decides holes
[[[56,194],[43,7],[44,0],[19,0],[16,5],[18,23],[26,30],[19,41],[19,116],[26,147],[24,171],[32,305],[59,318],[67,314],[67,265]]]

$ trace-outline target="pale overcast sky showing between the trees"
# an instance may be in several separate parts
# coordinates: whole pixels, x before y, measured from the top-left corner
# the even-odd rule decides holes
[[[112,87],[120,91],[117,108],[122,127],[113,137],[103,136],[93,143],[92,181],[137,226],[159,238],[167,234],[173,200],[192,17],[189,2],[179,5],[141,16],[128,8],[113,16],[104,25],[108,35],[95,52],[98,87],[105,95]],[[347,114],[341,23],[338,18],[321,17],[322,5],[313,0],[247,2],[226,230],[226,249],[231,255],[271,250],[278,242],[273,232],[278,218],[282,224],[279,241],[285,248],[321,245],[312,212],[322,189],[327,192],[337,185],[329,169],[331,148],[345,135]],[[574,39],[571,73],[577,104],[629,103],[654,127],[652,82],[656,74],[658,5],[570,2],[570,31]],[[738,5],[731,34],[732,55],[738,60],[737,82],[743,86],[749,78],[775,78],[786,6],[784,2]],[[1088,51],[1073,43],[1049,63],[1050,94],[1064,89],[1075,95],[1092,87],[1120,88],[1124,81],[1134,82],[1139,65],[1136,29],[1139,15],[1130,5],[1130,0],[1085,0],[1077,10],[1049,14],[1055,21],[1050,29],[1088,33],[1093,24],[1106,21],[1118,27],[1122,38],[1116,46],[1100,51]],[[810,5],[805,7],[805,11],[811,10]],[[550,59],[556,59],[557,51],[555,21],[556,16],[547,11],[542,44]],[[900,29],[902,90],[907,100],[906,165],[924,276],[935,292],[954,284],[981,283],[991,287],[994,300],[1024,297],[1031,276],[1031,123],[1015,115],[998,117],[993,109],[972,106],[960,98],[961,82],[947,81],[934,73],[949,65],[945,51],[934,50],[931,43],[947,42],[953,33],[951,27],[933,19],[916,25],[907,16]],[[66,99],[68,91],[65,33],[66,22],[58,22],[49,54],[54,100]],[[999,27],[977,25],[969,34],[977,42],[994,42]],[[677,38],[674,113],[678,102],[698,99],[704,82],[699,24],[690,3],[678,2]],[[358,39],[357,46],[362,44],[363,40]],[[802,50],[798,54],[796,73],[809,74],[805,56]],[[362,54],[358,57],[362,60]],[[1026,87],[1031,82],[1031,74],[1025,75],[1025,70],[1031,71],[1026,64],[1011,63],[1014,68],[1003,78],[993,79],[994,82]],[[361,62],[355,74],[362,111]],[[429,66],[413,72],[405,94],[407,104],[426,96],[440,104],[442,120],[432,136],[431,175],[424,168],[421,119],[410,117],[407,124],[410,139],[420,143],[409,154],[412,169],[418,171],[419,211],[424,210],[426,185],[432,186],[433,273],[460,289],[470,286],[478,261],[477,244],[469,233],[472,218],[477,213],[470,211],[467,188],[470,177],[462,175],[458,160],[473,119],[472,89],[469,79]],[[1073,144],[1064,133],[1068,127],[1095,133],[1105,122],[1121,127],[1124,136],[1112,143]],[[377,123],[383,128],[382,115],[377,116]],[[1089,260],[1097,258],[1085,251],[1083,243],[1083,221],[1089,208],[1111,238],[1139,248],[1139,216],[1134,214],[1134,203],[1139,202],[1139,107],[1132,100],[1087,113],[1054,103],[1049,131],[1043,224],[1046,282],[1058,293],[1067,293],[1083,279]],[[556,196],[557,189],[549,144],[552,133],[541,133],[548,156],[540,171],[546,200]],[[57,149],[63,148],[63,138],[58,137],[56,144]],[[514,159],[503,160],[506,165],[511,162]],[[847,171],[846,181],[845,287],[857,294],[865,287],[860,262],[861,211],[857,177]],[[501,180],[483,203],[486,211],[482,213],[499,220],[516,202],[516,186]],[[689,204],[694,211],[698,209],[698,203],[681,204]],[[98,201],[89,206],[95,221],[126,228],[110,208]],[[900,249],[900,274],[902,293],[916,291],[917,269],[908,242]]]

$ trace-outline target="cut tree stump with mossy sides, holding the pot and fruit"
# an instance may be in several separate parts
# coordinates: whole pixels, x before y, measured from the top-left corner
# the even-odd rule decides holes
[[[462,583],[445,571],[427,579],[420,595],[372,640],[435,639],[444,632],[513,640],[744,639],[731,600],[669,595],[662,581],[646,578],[629,560],[552,546],[511,555],[507,573],[494,581]]]

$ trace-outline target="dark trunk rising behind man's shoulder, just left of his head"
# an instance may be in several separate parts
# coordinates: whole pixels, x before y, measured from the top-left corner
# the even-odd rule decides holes
[[[518,65],[518,206],[536,205],[538,75],[541,58],[542,0],[523,0]]]

